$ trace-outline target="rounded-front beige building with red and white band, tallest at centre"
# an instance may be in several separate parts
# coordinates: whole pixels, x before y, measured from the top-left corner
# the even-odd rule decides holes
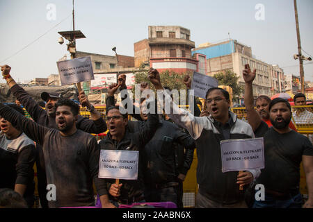
[[[146,65],[158,71],[199,71],[205,74],[205,56],[192,56],[195,42],[190,31],[181,26],[149,26],[148,39],[134,43],[135,66]],[[202,67],[199,61],[203,61]]]

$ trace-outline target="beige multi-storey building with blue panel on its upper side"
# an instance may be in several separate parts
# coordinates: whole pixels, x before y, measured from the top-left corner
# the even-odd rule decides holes
[[[209,76],[230,70],[239,77],[239,85],[242,87],[244,86],[242,72],[245,65],[249,64],[250,69],[257,69],[257,76],[253,82],[253,95],[255,97],[259,95],[271,97],[274,94],[271,89],[272,66],[252,56],[250,46],[236,40],[227,40],[216,44],[201,44],[198,48],[193,49],[192,53],[202,53],[207,56],[207,74]]]

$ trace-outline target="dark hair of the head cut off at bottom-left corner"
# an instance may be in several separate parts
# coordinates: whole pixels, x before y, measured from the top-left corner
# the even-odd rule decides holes
[[[26,201],[13,189],[0,189],[0,207],[4,208],[28,208]]]

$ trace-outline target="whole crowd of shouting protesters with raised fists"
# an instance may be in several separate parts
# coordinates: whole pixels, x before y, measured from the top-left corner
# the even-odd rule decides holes
[[[189,94],[191,76],[184,77],[184,84],[189,103],[194,104],[193,110],[186,110],[172,98],[172,89],[163,87],[156,69],[147,75],[158,95],[145,93],[138,105],[132,103],[125,90],[126,76],[121,74],[118,83],[109,85],[103,119],[83,90],[79,103],[90,118],[79,114],[77,103],[58,94],[42,92],[42,108],[15,82],[10,69],[1,66],[18,105],[0,103],[0,207],[33,207],[35,164],[42,208],[182,208],[183,182],[194,150],[196,208],[313,207],[312,137],[296,132],[291,121],[305,124],[300,121],[306,115],[312,124],[313,114],[291,112],[289,102],[280,98],[259,96],[254,103],[256,71],[249,65],[242,74],[247,121],[230,111],[230,94],[219,87],[207,89],[200,110],[196,99],[190,99],[194,96]],[[115,95],[119,92],[118,105]],[[152,92],[148,83],[141,83],[141,92]],[[297,94],[294,102],[305,105],[305,95]],[[31,119],[25,117],[25,110]],[[106,130],[99,141],[92,135]],[[249,153],[262,151],[263,166],[226,169],[223,153],[236,153],[235,142],[252,143],[255,148]],[[228,151],[223,152],[226,146]],[[307,199],[299,189],[301,163]],[[114,175],[116,166],[124,171]],[[264,194],[257,185],[264,186]]]

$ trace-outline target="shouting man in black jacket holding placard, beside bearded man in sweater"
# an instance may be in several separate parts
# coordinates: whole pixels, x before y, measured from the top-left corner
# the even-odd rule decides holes
[[[158,115],[156,112],[147,114],[147,121],[142,125],[141,129],[135,133],[130,133],[127,130],[127,114],[120,114],[118,106],[107,107],[106,112],[109,133],[99,142],[100,148],[106,150],[139,151],[137,180],[120,180],[120,183],[117,185],[115,180],[105,179],[110,199],[116,206],[142,202],[145,200],[143,195],[143,169],[145,166],[142,152],[145,144],[154,135],[158,123]]]

